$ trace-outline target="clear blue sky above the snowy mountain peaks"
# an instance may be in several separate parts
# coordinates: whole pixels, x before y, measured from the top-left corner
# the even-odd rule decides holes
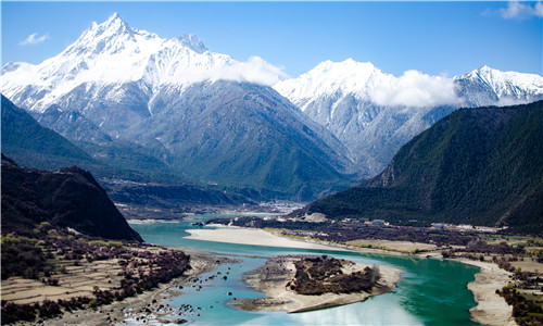
[[[40,63],[114,12],[161,37],[195,34],[239,61],[295,77],[352,58],[400,76],[482,65],[542,75],[541,2],[1,2],[2,65]]]

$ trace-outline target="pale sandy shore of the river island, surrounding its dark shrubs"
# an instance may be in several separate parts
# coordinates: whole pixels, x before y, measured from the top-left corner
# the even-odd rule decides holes
[[[403,271],[399,268],[342,261],[343,275],[362,273],[366,267],[378,268],[380,275],[378,283],[367,292],[299,294],[287,286],[294,279],[296,273],[294,262],[299,260],[301,256],[296,255],[276,256],[269,259],[260,268],[249,272],[244,280],[255,290],[265,293],[266,298],[237,299],[230,304],[244,311],[306,312],[359,302],[372,296],[390,292],[395,288],[395,284],[402,279],[400,274]]]

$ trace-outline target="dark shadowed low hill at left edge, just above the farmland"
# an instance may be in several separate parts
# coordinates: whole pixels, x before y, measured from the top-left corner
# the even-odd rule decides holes
[[[87,171],[28,170],[2,155],[2,233],[25,233],[41,222],[89,236],[143,241]]]

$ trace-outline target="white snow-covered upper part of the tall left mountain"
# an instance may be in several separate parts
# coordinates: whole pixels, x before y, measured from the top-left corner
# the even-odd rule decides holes
[[[33,65],[8,63],[0,91],[18,105],[43,112],[81,85],[98,87],[144,84],[156,91],[164,85],[180,88],[203,80],[277,83],[285,73],[261,58],[247,62],[210,51],[195,35],[165,39],[130,27],[117,13],[92,23],[58,55]]]

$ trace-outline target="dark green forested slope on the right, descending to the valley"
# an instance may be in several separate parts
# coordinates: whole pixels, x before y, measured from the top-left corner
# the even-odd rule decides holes
[[[378,176],[295,214],[313,213],[541,235],[543,101],[455,111],[403,146]]]

